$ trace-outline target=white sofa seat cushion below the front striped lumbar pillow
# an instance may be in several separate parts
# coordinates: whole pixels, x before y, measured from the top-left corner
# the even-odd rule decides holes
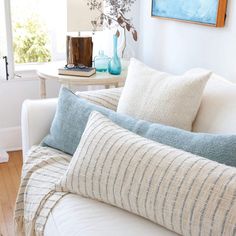
[[[45,236],[175,236],[177,234],[116,207],[69,194],[52,210]]]

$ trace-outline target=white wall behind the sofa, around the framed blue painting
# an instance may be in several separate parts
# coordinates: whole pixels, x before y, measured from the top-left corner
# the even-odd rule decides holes
[[[151,0],[139,2],[142,61],[172,73],[204,67],[236,82],[236,1],[228,1],[224,28],[152,18]]]

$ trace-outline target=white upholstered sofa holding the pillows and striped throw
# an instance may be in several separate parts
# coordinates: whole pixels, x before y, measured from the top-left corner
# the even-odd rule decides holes
[[[193,91],[194,92],[194,91]],[[56,99],[25,101],[22,108],[24,160],[31,146],[49,132]],[[210,79],[194,132],[236,133],[236,85],[217,75]],[[77,195],[67,195],[53,209],[44,234],[49,235],[176,235],[146,219]]]

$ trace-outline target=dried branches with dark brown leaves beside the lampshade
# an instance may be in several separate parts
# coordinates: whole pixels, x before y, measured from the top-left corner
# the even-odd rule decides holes
[[[130,19],[125,17],[125,14],[131,11],[131,6],[136,0],[103,0],[104,4],[108,6],[106,12],[103,11],[103,3],[101,0],[87,0],[87,5],[91,11],[97,10],[100,15],[91,23],[96,29],[99,26],[112,27],[119,25],[124,30],[130,32],[135,41],[138,40],[138,33],[133,26]],[[117,30],[117,36],[120,35]]]

